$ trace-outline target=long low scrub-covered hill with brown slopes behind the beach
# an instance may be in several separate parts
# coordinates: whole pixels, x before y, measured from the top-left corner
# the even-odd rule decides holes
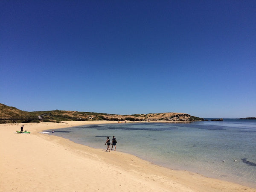
[[[132,115],[117,115],[108,113],[94,112],[79,112],[79,111],[21,111],[15,107],[9,107],[0,104],[0,123],[7,122],[60,122],[60,121],[89,121],[89,120],[112,120],[112,121],[204,121],[203,118],[191,116],[186,113],[148,113],[148,114],[132,114]],[[9,117],[8,120],[3,117]],[[16,117],[16,118],[11,118]],[[21,118],[24,117],[22,120]],[[34,117],[27,118],[26,117]],[[2,119],[2,120],[1,120]],[[16,119],[16,120],[15,120]],[[37,120],[35,120],[37,119]]]

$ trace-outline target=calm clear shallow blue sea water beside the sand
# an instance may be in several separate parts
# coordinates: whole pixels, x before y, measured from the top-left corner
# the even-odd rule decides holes
[[[256,188],[256,120],[84,125],[58,129],[54,135],[104,150],[106,137],[114,135],[117,151]]]

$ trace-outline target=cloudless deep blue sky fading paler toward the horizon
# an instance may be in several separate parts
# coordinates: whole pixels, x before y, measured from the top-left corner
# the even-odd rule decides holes
[[[0,103],[256,116],[255,0],[1,0]]]

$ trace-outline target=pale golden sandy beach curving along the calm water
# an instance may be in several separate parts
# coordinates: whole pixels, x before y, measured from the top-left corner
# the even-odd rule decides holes
[[[157,166],[131,154],[106,152],[105,141],[102,149],[95,149],[40,133],[100,123],[116,122],[0,124],[0,191],[256,192],[236,183]],[[31,134],[15,134],[21,125]]]

